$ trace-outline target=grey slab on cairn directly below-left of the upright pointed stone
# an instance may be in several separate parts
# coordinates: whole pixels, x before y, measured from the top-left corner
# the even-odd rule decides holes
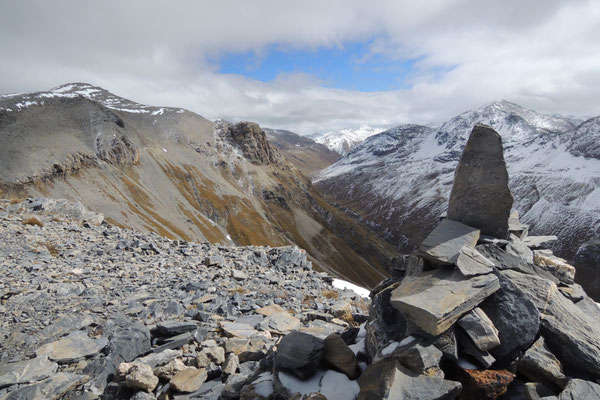
[[[444,219],[423,240],[417,255],[433,262],[454,264],[463,246],[475,247],[479,233],[479,229]]]

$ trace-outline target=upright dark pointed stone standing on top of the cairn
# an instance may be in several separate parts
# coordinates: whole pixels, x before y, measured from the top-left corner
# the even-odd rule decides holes
[[[454,172],[448,218],[506,239],[512,204],[502,138],[491,127],[477,124]]]

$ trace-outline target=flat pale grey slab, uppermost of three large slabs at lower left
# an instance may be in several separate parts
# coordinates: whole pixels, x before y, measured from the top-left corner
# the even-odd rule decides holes
[[[36,350],[38,356],[47,355],[58,363],[79,361],[98,354],[108,344],[108,339],[92,339],[85,331],[75,331],[56,342],[48,343]]]

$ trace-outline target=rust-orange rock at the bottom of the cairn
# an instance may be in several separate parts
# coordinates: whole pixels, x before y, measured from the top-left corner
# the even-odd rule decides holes
[[[466,369],[463,379],[461,400],[494,400],[506,393],[515,375],[507,370]]]

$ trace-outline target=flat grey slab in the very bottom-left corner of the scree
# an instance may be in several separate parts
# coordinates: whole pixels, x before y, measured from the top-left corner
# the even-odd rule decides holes
[[[58,373],[33,385],[10,392],[3,400],[49,400],[59,399],[86,379],[86,375]]]

